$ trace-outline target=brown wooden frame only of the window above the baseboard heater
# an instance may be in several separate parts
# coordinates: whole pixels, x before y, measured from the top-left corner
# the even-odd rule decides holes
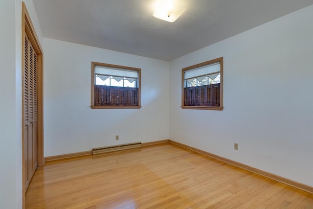
[[[138,105],[133,106],[117,106],[117,105],[94,105],[94,89],[95,89],[95,67],[96,66],[103,66],[109,68],[116,68],[120,70],[134,70],[138,72]],[[130,87],[131,88],[131,87]],[[127,66],[120,66],[120,65],[112,65],[107,63],[99,63],[99,62],[91,62],[91,109],[140,109],[141,108],[141,69],[140,68],[133,68]]]

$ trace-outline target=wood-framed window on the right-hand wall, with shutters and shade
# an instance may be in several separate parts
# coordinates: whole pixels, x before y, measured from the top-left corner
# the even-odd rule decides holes
[[[223,110],[223,57],[182,69],[181,108]]]

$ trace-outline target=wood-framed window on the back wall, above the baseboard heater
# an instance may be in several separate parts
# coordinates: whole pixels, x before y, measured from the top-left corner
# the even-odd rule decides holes
[[[140,108],[140,69],[91,63],[91,108]]]

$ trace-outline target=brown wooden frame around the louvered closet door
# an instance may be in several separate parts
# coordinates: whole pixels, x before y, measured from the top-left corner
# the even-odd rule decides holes
[[[31,22],[26,5],[22,2],[22,205],[25,208],[25,147],[24,147],[24,62],[25,62],[25,34],[33,45],[37,56],[37,161],[43,166],[44,161],[44,53],[40,45],[33,23]]]

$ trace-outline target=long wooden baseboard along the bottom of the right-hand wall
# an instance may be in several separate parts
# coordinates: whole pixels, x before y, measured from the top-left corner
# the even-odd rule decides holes
[[[203,151],[201,149],[197,149],[195,147],[192,147],[192,146],[188,146],[186,144],[182,144],[182,143],[179,143],[177,141],[173,141],[171,139],[169,139],[169,143],[172,143],[172,144],[175,144],[177,146],[180,146],[180,147],[183,147],[185,149],[189,149],[191,151],[194,151],[194,152],[197,152],[197,153],[200,153],[202,155],[205,155],[205,156],[208,156],[208,157],[211,157],[211,158],[214,158],[216,160],[219,160],[219,161],[222,161],[224,163],[228,163],[228,164],[231,164],[231,165],[234,165],[236,167],[240,167],[240,168],[243,168],[247,171],[250,171],[250,172],[253,172],[253,173],[256,173],[256,174],[259,174],[261,176],[265,176],[269,179],[272,179],[272,180],[275,180],[277,182],[280,182],[280,183],[283,183],[285,185],[289,185],[289,186],[292,186],[292,187],[295,187],[295,188],[298,188],[298,189],[301,189],[301,190],[304,190],[304,191],[307,191],[307,192],[310,192],[310,193],[313,193],[313,187],[312,186],[308,186],[308,185],[305,185],[305,184],[301,184],[299,182],[295,182],[293,180],[290,180],[290,179],[287,179],[287,178],[284,178],[284,177],[281,177],[281,176],[278,176],[278,175],[275,175],[275,174],[272,174],[272,173],[268,173],[266,171],[263,171],[263,170],[260,170],[258,168],[254,168],[254,167],[251,167],[249,165],[246,165],[246,164],[243,164],[243,163],[238,163],[236,161],[232,161],[230,159],[227,159],[227,158],[223,158],[221,156],[218,156],[218,155],[214,155],[212,153],[209,153],[209,152],[206,152],[206,151]]]

